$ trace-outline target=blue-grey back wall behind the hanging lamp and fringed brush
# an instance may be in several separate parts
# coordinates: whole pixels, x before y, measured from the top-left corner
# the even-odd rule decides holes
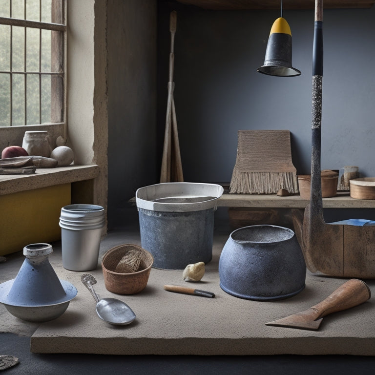
[[[185,179],[230,181],[239,129],[289,129],[297,173],[310,173],[313,10],[284,10],[292,64],[302,71],[291,78],[256,72],[278,11],[177,14],[175,103]],[[325,10],[323,22],[322,169],[356,165],[375,176],[375,7]],[[166,95],[161,84],[159,98]]]

